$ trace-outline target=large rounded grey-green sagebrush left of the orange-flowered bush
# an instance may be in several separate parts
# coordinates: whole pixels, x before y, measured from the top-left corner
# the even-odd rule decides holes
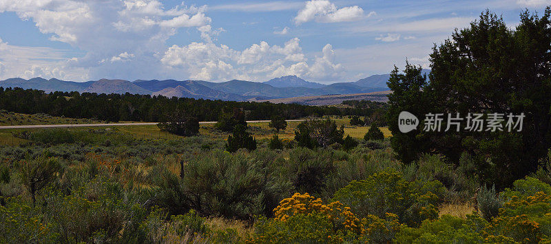
[[[251,220],[270,212],[273,198],[280,199],[288,184],[276,181],[272,170],[242,153],[213,151],[185,164],[179,179],[165,170],[156,179],[156,203],[169,214],[184,214],[189,209],[202,216]]]

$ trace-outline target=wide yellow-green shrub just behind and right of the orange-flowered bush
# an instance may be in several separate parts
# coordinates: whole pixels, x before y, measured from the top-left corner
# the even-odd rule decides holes
[[[359,217],[373,214],[385,218],[386,212],[397,214],[400,223],[417,226],[424,219],[436,219],[435,207],[444,192],[439,181],[413,181],[402,179],[395,170],[387,169],[361,181],[352,181],[335,192],[333,201],[352,208]]]

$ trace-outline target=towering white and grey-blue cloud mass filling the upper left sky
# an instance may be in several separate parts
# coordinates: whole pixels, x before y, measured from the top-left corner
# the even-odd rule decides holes
[[[65,76],[69,69],[85,69],[90,78],[145,78],[162,74],[165,42],[180,28],[209,26],[205,6],[177,5],[165,9],[158,0],[14,0],[0,1],[0,12],[16,12],[31,20],[50,40],[69,43],[85,52],[83,57],[64,56]],[[204,28],[201,34],[213,36],[218,30]],[[16,61],[16,60],[13,60]],[[6,62],[4,62],[6,63]],[[23,75],[61,73],[35,61]],[[50,63],[53,65],[53,63]],[[45,71],[40,71],[45,70]]]

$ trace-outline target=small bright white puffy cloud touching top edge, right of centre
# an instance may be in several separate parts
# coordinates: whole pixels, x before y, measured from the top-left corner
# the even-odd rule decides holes
[[[300,25],[308,21],[328,23],[355,21],[361,19],[363,15],[364,10],[358,6],[337,8],[328,0],[311,0],[307,1],[304,8],[295,16],[295,23]],[[370,12],[368,15],[373,14]]]

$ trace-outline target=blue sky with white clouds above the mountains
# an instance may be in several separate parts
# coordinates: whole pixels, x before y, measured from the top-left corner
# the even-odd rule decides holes
[[[433,45],[488,9],[510,28],[551,0],[0,0],[0,79],[325,84],[430,68]]]

